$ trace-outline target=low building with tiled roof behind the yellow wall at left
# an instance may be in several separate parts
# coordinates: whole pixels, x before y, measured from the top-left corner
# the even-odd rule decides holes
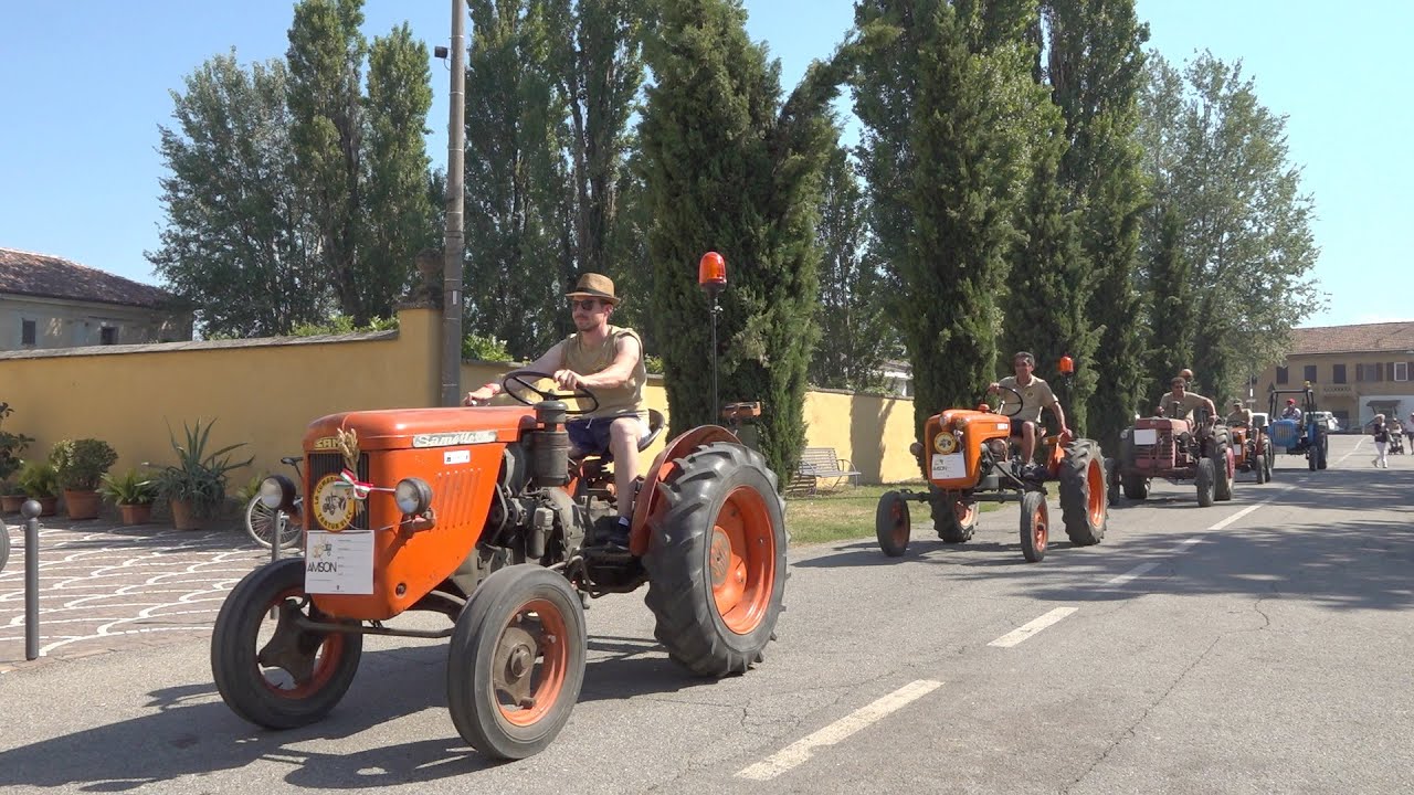
[[[171,294],[75,262],[0,248],[0,351],[189,341]]]

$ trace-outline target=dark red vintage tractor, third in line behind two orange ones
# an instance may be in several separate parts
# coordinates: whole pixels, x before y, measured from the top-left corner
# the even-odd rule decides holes
[[[1110,494],[1120,489],[1128,499],[1147,499],[1154,478],[1192,481],[1198,505],[1233,498],[1232,433],[1215,417],[1195,422],[1169,416],[1140,417],[1120,431],[1120,457],[1110,470]],[[1202,409],[1196,413],[1206,414]]]

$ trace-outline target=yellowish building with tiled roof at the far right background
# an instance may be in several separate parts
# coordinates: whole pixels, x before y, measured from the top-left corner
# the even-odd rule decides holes
[[[1309,382],[1316,407],[1357,433],[1374,414],[1408,423],[1411,379],[1414,323],[1297,328],[1287,359],[1257,378],[1253,396],[1258,410],[1266,410],[1268,389],[1301,389]]]

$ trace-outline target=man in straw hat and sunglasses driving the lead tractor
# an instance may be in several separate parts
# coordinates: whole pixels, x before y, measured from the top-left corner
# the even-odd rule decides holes
[[[633,480],[638,477],[638,443],[649,433],[643,406],[643,341],[632,328],[609,325],[619,298],[614,282],[600,273],[585,273],[567,293],[575,334],[566,337],[543,356],[513,372],[553,372],[560,389],[592,389],[600,400],[594,412],[566,423],[570,455],[614,455],[614,487],[619,495],[618,523],[608,545],[628,547],[633,515]],[[499,381],[467,393],[462,405],[481,406],[502,392]]]

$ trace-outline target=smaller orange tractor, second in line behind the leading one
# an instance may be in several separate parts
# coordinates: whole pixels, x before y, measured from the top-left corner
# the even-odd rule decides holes
[[[1021,409],[1019,393],[1015,406]],[[1021,552],[1027,560],[1038,562],[1051,539],[1048,482],[1059,485],[1060,518],[1070,540],[1076,546],[1100,543],[1109,522],[1109,501],[1099,443],[1069,434],[1048,436],[1045,465],[1028,471],[1028,461],[1011,439],[1010,417],[983,403],[976,410],[947,409],[928,419],[923,441],[913,443],[928,491],[889,491],[880,498],[874,523],[884,555],[896,557],[908,549],[909,502],[928,502],[937,538],[962,543],[977,528],[978,502],[1019,501]]]

